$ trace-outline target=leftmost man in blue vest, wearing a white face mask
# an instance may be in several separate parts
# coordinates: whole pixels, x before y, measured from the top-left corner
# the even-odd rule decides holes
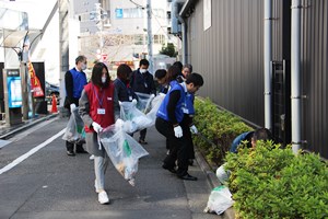
[[[85,69],[86,57],[81,55],[75,59],[75,67],[65,73],[66,99],[63,106],[70,112],[70,114],[77,106],[79,106],[79,99],[81,97],[83,87],[87,83],[86,76],[83,72]],[[68,155],[75,155],[74,145],[77,153],[86,153],[82,143],[66,141]]]

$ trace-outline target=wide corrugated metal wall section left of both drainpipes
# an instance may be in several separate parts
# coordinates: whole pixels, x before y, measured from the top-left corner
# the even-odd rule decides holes
[[[204,77],[200,95],[263,126],[262,0],[212,1],[212,26],[203,31],[203,1],[188,21],[189,61]]]

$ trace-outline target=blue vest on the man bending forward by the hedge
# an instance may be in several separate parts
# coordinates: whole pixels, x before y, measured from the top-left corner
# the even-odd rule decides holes
[[[176,117],[176,120],[178,123],[180,123],[184,118],[184,111],[183,111],[183,107],[185,105],[185,99],[186,99],[186,94],[185,94],[185,91],[184,91],[184,88],[179,84],[179,83],[175,83],[173,84],[172,89],[168,91],[168,93],[165,95],[157,113],[156,113],[156,116],[160,117],[160,118],[163,118],[164,120],[167,120],[167,122],[172,122],[169,118],[168,118],[168,113],[167,113],[167,104],[169,102],[169,94],[173,92],[173,91],[179,91],[180,92],[180,99],[178,100],[177,104],[176,104],[176,107],[175,107],[175,117]]]

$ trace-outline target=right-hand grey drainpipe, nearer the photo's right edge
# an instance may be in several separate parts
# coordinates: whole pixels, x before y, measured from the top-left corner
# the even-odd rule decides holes
[[[301,149],[301,0],[292,0],[291,41],[291,104],[292,104],[292,149]]]

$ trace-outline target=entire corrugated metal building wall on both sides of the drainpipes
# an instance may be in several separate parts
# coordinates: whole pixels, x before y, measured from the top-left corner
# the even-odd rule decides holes
[[[203,31],[203,1],[187,19],[188,61],[204,77],[199,94],[258,126],[263,112],[263,1],[213,0]],[[291,0],[272,1],[272,59],[290,61]],[[302,10],[303,138],[328,158],[328,2],[304,0]],[[290,74],[290,70],[288,70]],[[290,118],[288,118],[290,119]]]

